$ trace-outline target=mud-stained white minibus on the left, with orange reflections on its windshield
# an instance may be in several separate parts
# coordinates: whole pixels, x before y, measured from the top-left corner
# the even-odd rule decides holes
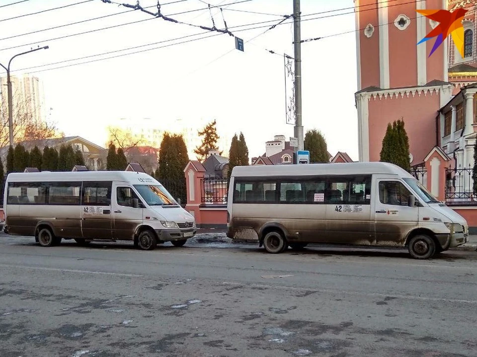
[[[197,231],[194,218],[145,173],[11,173],[3,197],[4,232],[34,236],[45,247],[62,238],[99,239],[151,250],[166,241],[182,246]]]

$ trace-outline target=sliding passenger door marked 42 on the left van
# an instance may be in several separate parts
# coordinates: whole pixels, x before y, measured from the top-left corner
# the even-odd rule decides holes
[[[112,239],[111,181],[83,182],[81,228],[83,238]]]

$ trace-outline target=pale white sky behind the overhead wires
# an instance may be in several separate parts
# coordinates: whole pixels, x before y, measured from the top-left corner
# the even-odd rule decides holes
[[[16,1],[18,0],[0,0],[0,6]],[[12,16],[79,1],[29,0],[0,7],[0,38],[128,10],[124,6],[93,0],[63,9],[1,21]],[[161,2],[171,1],[173,0]],[[211,5],[220,3],[225,5],[235,1],[238,0],[210,0]],[[136,0],[116,0],[116,2],[135,4]],[[140,4],[146,7],[156,5],[157,1],[141,0]],[[171,15],[205,7],[207,5],[200,0],[185,0],[162,5],[161,13]],[[355,22],[352,7],[351,0],[302,0],[302,16],[344,9],[339,12],[305,16],[303,19],[342,14],[303,21],[302,39],[353,31]],[[293,13],[293,0],[250,0],[224,7],[225,20],[229,27],[262,21],[278,22],[280,17],[228,11],[226,8],[284,15]],[[157,9],[150,10],[155,12]],[[216,26],[223,28],[220,10],[215,8],[212,13]],[[14,74],[13,71],[16,69],[151,44],[190,34],[202,32],[205,36],[213,34],[163,19],[151,19],[66,39],[45,41],[150,17],[152,16],[136,10],[105,19],[0,40],[0,62],[6,65],[11,56],[38,45],[50,47],[48,50],[14,59],[11,66]],[[197,25],[209,27],[212,25],[208,10],[171,17]],[[248,27],[271,26],[274,23],[276,22]],[[231,29],[231,32],[246,42],[265,30],[266,28],[259,28],[235,32]],[[201,36],[185,40],[199,37]],[[34,42],[35,45],[3,50]],[[55,121],[66,135],[80,135],[104,146],[107,138],[106,126],[114,124],[119,118],[151,118],[156,120],[158,128],[176,119],[182,119],[182,122],[188,123],[191,127],[197,126],[197,123],[201,126],[204,121],[216,119],[219,135],[232,137],[235,132],[244,133],[249,155],[253,157],[265,152],[265,141],[273,139],[274,135],[283,134],[287,138],[293,136],[293,125],[285,123],[283,57],[265,51],[265,49],[273,50],[279,54],[286,52],[293,57],[292,42],[293,24],[290,23],[279,25],[245,43],[245,52],[235,50],[234,38],[222,34],[140,54],[42,71],[35,75],[44,83],[48,108],[53,108],[51,120]],[[171,43],[174,42],[165,44]],[[216,60],[231,50],[232,52]],[[23,70],[17,74],[34,73],[35,70],[133,51]],[[213,60],[215,61],[208,64]],[[358,125],[354,103],[357,88],[355,33],[303,43],[302,76],[305,132],[313,128],[321,130],[327,141],[328,151],[332,155],[337,151],[345,151],[352,159],[357,160]],[[221,149],[225,152],[229,150],[228,147]]]

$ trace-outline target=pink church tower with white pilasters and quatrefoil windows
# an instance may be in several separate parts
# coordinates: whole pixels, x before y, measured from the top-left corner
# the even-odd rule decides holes
[[[411,165],[436,143],[436,116],[452,94],[449,39],[429,57],[434,39],[417,43],[438,23],[416,12],[445,9],[446,0],[354,0],[359,160],[379,161],[388,123],[402,119]],[[434,133],[434,134],[432,134]]]

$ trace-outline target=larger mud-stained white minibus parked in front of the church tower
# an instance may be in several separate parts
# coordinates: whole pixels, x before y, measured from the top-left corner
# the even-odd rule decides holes
[[[428,259],[469,235],[462,216],[382,162],[234,167],[227,209],[227,236],[254,231],[270,253],[330,243],[402,246]]]

